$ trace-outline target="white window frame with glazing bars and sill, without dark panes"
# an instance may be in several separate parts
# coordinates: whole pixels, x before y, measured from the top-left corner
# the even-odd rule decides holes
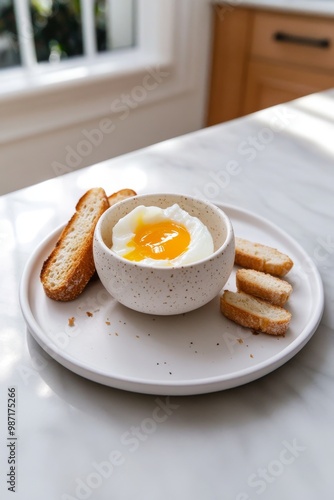
[[[10,3],[6,1],[7,6]],[[81,8],[92,3],[93,0],[81,0]],[[122,101],[127,96],[132,99],[132,94],[136,101],[131,108],[131,115],[134,115],[137,109],[185,92],[197,81],[192,72],[196,58],[187,57],[189,48],[197,40],[198,25],[192,20],[192,3],[193,0],[106,0],[106,6],[111,6],[110,14],[114,14],[110,29],[111,50],[99,52],[96,49],[89,53],[86,47],[92,49],[93,44],[92,40],[90,43],[86,40],[81,56],[53,62],[38,62],[36,57],[29,65],[28,58],[23,56],[27,47],[20,35],[29,30],[17,15],[17,6],[27,6],[28,1],[13,0],[18,20],[18,35],[14,41],[21,50],[22,61],[0,69],[0,116],[5,117],[0,120],[0,145],[10,147],[13,141],[58,133],[64,127],[100,120],[109,113],[117,116],[122,114]],[[4,0],[0,0],[0,5],[4,5]],[[121,13],[123,22],[118,15]],[[83,12],[81,19],[85,40],[87,19],[84,21]],[[92,19],[94,17],[90,16]],[[95,37],[95,30],[90,31],[90,36]],[[35,53],[32,36],[28,37],[28,46]]]

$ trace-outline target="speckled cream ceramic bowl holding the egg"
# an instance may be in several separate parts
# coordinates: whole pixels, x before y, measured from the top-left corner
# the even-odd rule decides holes
[[[124,259],[110,250],[112,228],[138,205],[167,208],[174,203],[209,229],[214,253],[194,264],[158,268]],[[181,314],[212,300],[228,280],[234,263],[234,233],[227,215],[215,205],[179,194],[134,196],[111,206],[98,221],[94,260],[106,290],[121,304],[155,315]]]

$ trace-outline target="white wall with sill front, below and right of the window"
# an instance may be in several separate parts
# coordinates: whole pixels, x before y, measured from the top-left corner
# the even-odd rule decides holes
[[[175,2],[172,65],[0,101],[0,194],[201,128],[210,3]]]

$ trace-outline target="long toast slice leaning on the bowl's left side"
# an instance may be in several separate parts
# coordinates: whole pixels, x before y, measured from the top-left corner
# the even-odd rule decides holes
[[[90,189],[78,201],[75,214],[42,266],[40,279],[50,299],[74,300],[93,276],[94,230],[107,208],[109,202],[102,188]]]

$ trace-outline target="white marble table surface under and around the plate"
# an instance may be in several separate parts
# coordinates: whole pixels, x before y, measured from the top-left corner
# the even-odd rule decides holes
[[[333,128],[330,91],[0,198],[1,499],[332,498]],[[95,185],[206,197],[285,228],[324,284],[311,340],[263,378],[197,396],[121,391],[62,367],[27,332],[19,282],[37,244]],[[8,439],[11,388],[16,440]]]

